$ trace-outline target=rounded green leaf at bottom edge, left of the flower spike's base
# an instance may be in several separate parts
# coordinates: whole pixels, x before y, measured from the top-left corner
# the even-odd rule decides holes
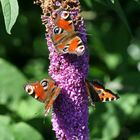
[[[38,131],[24,122],[13,125],[12,130],[16,140],[43,140],[43,137]]]

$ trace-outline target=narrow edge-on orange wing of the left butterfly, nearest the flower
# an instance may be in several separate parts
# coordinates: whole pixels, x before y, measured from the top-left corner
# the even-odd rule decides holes
[[[51,97],[49,103],[45,105],[45,116],[48,115],[48,113],[51,109],[51,106],[53,105],[54,101],[56,100],[57,96],[60,93],[60,90],[61,89],[59,87],[57,87],[56,90],[54,91],[54,93],[52,93],[52,97]]]

